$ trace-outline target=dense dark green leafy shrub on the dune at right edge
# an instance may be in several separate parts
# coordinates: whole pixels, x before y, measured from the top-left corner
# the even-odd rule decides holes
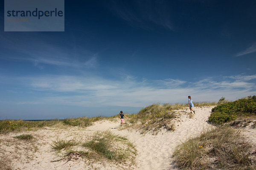
[[[209,122],[223,124],[237,119],[238,116],[256,115],[256,96],[248,96],[235,102],[217,105],[212,108]]]

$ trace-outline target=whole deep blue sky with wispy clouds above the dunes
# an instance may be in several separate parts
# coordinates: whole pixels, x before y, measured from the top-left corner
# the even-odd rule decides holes
[[[65,1],[64,32],[4,32],[0,119],[256,95],[253,0]],[[1,16],[3,21],[3,2]]]

